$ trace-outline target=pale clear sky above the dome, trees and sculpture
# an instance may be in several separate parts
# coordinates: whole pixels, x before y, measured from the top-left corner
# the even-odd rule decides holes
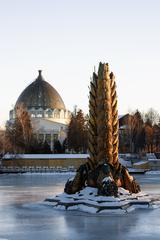
[[[116,76],[119,114],[160,112],[159,0],[0,0],[0,126],[42,75],[72,111],[88,112],[99,62]]]

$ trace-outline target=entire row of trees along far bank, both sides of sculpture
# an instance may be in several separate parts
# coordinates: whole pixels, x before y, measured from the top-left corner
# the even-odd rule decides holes
[[[40,141],[34,133],[29,113],[23,106],[17,108],[14,121],[6,124],[0,135],[0,152],[51,153],[49,143]],[[67,138],[61,144],[54,142],[54,153],[88,152],[88,115],[81,109],[71,114]],[[119,152],[160,152],[160,116],[150,109],[147,113],[136,110],[119,119]]]

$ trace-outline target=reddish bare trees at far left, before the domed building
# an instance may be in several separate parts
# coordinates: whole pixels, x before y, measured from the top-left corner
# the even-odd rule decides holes
[[[8,153],[51,153],[49,144],[40,141],[33,131],[31,118],[23,105],[16,109],[14,121],[6,123],[3,151]]]

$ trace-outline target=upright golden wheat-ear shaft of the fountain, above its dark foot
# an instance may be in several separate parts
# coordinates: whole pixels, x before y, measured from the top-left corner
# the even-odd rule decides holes
[[[89,163],[118,163],[118,110],[115,77],[108,64],[93,73],[89,99]]]

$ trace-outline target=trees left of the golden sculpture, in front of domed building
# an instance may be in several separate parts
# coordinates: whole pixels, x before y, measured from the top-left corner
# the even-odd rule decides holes
[[[32,127],[30,114],[23,105],[17,107],[14,121],[6,123],[6,130],[0,134],[0,153],[86,153],[87,117],[82,110],[74,111],[68,126],[67,138],[61,143],[54,141],[53,151],[47,141],[38,138]]]

